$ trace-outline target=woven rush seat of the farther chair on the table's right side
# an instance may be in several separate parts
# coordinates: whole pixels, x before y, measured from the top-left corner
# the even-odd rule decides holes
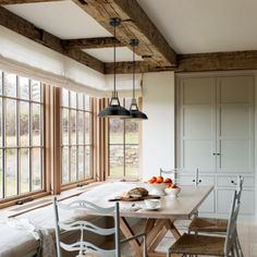
[[[193,232],[227,232],[228,220],[211,218],[194,218],[188,227]]]

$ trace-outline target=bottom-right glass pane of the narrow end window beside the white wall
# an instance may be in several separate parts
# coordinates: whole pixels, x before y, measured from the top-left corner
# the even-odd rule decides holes
[[[139,151],[138,146],[125,147],[125,175],[138,176],[139,172]]]

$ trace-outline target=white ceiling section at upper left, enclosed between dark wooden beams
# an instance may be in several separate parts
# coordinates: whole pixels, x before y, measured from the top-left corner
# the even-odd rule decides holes
[[[112,36],[72,1],[23,3],[5,8],[62,39]]]

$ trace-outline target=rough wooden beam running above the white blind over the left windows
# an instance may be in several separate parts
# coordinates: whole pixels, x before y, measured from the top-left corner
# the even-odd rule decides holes
[[[45,47],[48,47],[59,53],[62,53],[82,64],[85,64],[98,72],[105,73],[105,64],[98,59],[83,52],[81,50],[64,49],[62,40],[52,34],[34,26],[28,21],[17,16],[16,14],[8,11],[3,7],[0,7],[0,25],[21,34],[22,36],[29,38]]]

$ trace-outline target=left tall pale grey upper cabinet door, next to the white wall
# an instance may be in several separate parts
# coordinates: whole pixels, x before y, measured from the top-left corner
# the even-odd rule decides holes
[[[183,78],[180,88],[181,167],[216,170],[216,79]]]

